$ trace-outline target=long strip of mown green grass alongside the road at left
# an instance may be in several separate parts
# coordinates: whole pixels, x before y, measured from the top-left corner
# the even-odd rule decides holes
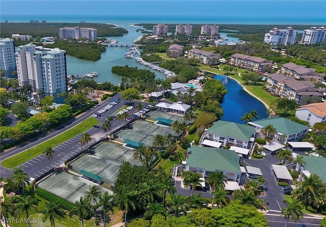
[[[98,121],[95,118],[89,118],[85,120],[85,122],[79,123],[75,127],[61,133],[60,135],[53,137],[53,144],[52,138],[50,138],[42,144],[39,144],[33,148],[30,148],[29,150],[25,150],[15,156],[12,156],[2,161],[2,165],[6,168],[14,168],[17,165],[20,165],[25,161],[28,161],[42,154],[47,147],[56,147],[57,145],[62,144],[64,141],[67,141],[68,139],[78,135],[79,133],[86,131],[87,129],[91,128],[93,125],[96,124],[98,124]]]

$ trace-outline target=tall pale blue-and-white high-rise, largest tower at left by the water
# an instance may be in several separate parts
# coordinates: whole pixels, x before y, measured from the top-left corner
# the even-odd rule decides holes
[[[15,53],[19,86],[31,84],[35,100],[37,92],[51,95],[57,102],[57,94],[67,91],[66,51],[44,48],[33,43],[21,45]]]

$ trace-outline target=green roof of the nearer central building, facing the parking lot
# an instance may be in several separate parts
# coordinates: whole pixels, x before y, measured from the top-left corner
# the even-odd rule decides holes
[[[235,151],[193,146],[187,152],[191,152],[186,158],[189,166],[205,168],[211,172],[218,170],[241,173]]]

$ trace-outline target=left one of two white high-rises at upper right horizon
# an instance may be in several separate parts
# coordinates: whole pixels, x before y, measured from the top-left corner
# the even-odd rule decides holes
[[[269,33],[265,34],[264,43],[269,43],[272,45],[276,44],[294,44],[296,43],[297,30],[293,27],[287,27],[287,29],[278,29],[274,27]]]

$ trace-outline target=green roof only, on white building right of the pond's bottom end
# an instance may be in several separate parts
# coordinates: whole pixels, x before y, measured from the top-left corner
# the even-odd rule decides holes
[[[253,123],[260,125],[262,127],[271,124],[276,129],[276,132],[280,132],[285,135],[299,134],[302,131],[309,129],[309,127],[305,125],[290,121],[282,117],[266,118],[266,119],[254,121]]]

